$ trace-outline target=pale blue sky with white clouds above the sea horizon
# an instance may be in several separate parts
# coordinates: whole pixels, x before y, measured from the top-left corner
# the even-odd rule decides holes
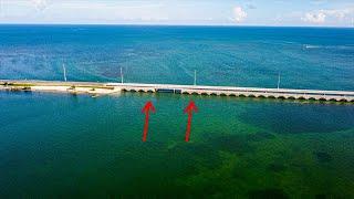
[[[354,27],[354,0],[0,0],[0,23]]]

